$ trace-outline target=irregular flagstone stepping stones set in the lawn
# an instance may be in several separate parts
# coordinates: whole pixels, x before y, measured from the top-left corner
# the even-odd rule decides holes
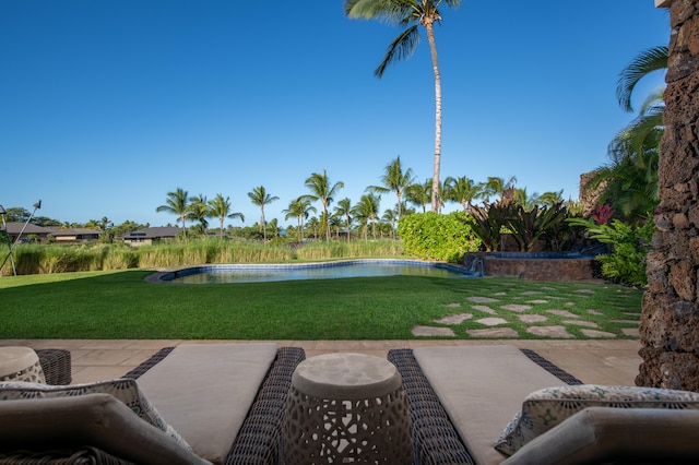
[[[472,296],[464,302],[450,302],[446,307],[455,310],[441,319],[435,320],[429,325],[413,327],[413,335],[425,337],[467,337],[467,338],[552,338],[572,339],[577,335],[570,331],[578,331],[588,338],[638,338],[640,314],[624,313],[621,319],[615,318],[609,323],[615,323],[617,333],[605,331],[590,320],[585,314],[599,320],[605,314],[604,309],[584,309],[577,311],[576,306],[565,297],[549,296],[556,289],[542,287],[542,290],[528,290],[517,294],[497,293],[493,297]],[[579,289],[578,294],[593,295],[594,289]],[[508,303],[502,303],[499,298],[509,297]],[[520,300],[522,303],[512,303]],[[544,306],[556,302],[554,309]],[[616,314],[618,315],[618,313]],[[516,325],[517,321],[521,325]],[[467,329],[460,327],[464,322]],[[517,326],[512,327],[512,326]],[[523,330],[522,330],[523,327]]]

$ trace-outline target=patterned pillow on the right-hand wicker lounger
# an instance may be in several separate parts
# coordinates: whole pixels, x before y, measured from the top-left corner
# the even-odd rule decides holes
[[[495,449],[512,455],[588,407],[699,409],[699,393],[596,384],[545,388],[524,398],[521,410],[496,440]]]

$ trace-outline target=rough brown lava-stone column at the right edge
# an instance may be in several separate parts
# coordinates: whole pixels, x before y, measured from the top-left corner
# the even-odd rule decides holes
[[[699,392],[699,1],[674,0],[638,385]]]

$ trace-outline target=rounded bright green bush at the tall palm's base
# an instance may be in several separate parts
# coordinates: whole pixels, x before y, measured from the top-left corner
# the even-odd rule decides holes
[[[462,212],[408,215],[399,222],[398,233],[404,252],[424,260],[461,263],[465,252],[481,247]]]

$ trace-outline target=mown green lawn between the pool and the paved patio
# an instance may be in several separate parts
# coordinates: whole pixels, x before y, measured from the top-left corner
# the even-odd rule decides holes
[[[518,338],[528,333],[507,305],[528,305],[546,317],[531,325],[582,326],[549,310],[629,338],[621,329],[640,319],[642,291],[614,284],[535,283],[512,278],[392,276],[249,284],[163,285],[149,271],[79,272],[0,277],[0,338],[181,339],[410,339],[415,325],[440,326],[443,317],[473,317],[452,325],[458,338],[505,319]],[[496,302],[476,303],[472,297]],[[538,302],[538,303],[533,303]],[[455,308],[459,306],[458,308]],[[487,306],[495,314],[483,310]],[[481,309],[481,310],[479,310]],[[590,310],[594,310],[590,312]],[[601,313],[601,314],[596,314]],[[618,321],[627,321],[626,323]]]

